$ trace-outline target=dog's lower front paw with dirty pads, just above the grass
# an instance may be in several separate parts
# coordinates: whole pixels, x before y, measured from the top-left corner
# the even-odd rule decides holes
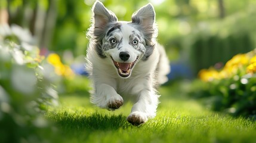
[[[129,116],[127,117],[127,120],[132,125],[138,126],[147,121],[147,116],[146,114],[137,111],[129,114]]]

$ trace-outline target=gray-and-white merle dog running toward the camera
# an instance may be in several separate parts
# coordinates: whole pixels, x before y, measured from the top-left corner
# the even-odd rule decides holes
[[[92,13],[85,64],[92,81],[91,102],[116,110],[131,100],[134,105],[127,120],[141,125],[156,116],[156,88],[169,73],[165,49],[156,42],[153,5],[140,8],[131,21],[118,21],[100,1],[95,1]]]

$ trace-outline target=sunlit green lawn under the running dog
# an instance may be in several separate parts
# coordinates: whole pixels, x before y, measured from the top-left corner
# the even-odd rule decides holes
[[[61,95],[61,107],[47,116],[56,123],[61,142],[256,142],[255,121],[209,111],[175,88],[160,92],[158,115],[141,126],[126,120],[130,103],[107,111],[81,93]]]

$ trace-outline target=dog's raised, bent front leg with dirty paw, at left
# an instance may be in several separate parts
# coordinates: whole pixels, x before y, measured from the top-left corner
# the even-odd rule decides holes
[[[123,98],[116,93],[112,86],[106,83],[101,83],[95,87],[95,93],[92,94],[91,102],[98,107],[107,108],[108,110],[118,109],[124,104]]]

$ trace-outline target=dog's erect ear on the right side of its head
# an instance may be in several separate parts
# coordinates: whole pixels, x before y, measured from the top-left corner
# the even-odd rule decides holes
[[[140,24],[144,29],[151,29],[155,23],[155,10],[152,4],[147,4],[132,14],[132,23]]]

